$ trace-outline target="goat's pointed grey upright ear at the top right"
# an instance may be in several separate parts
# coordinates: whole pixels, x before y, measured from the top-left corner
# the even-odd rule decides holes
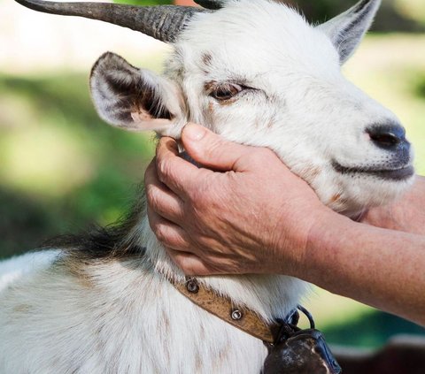
[[[352,56],[352,53],[363,39],[375,18],[381,0],[362,0],[348,11],[320,25],[328,35],[339,53],[341,65]]]

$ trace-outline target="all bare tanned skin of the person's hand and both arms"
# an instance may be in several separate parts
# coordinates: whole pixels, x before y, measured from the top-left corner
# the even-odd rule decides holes
[[[145,175],[151,227],[188,275],[274,273],[305,279],[425,325],[425,179],[354,222],[329,210],[268,149],[188,125],[197,168],[159,141]]]

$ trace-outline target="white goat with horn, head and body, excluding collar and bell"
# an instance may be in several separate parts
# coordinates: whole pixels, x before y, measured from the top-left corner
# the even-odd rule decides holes
[[[362,0],[318,27],[271,0],[199,0],[209,10],[108,4],[107,11],[100,4],[19,2],[174,44],[164,77],[112,53],[99,58],[92,95],[114,126],[179,138],[193,121],[228,140],[268,147],[322,202],[347,216],[390,202],[413,181],[413,156],[398,119],[341,73],[379,0]],[[0,294],[1,373],[258,374],[262,368],[261,340],[175,289],[170,280],[185,277],[143,208],[115,230],[31,256],[27,263],[34,266]],[[306,286],[277,275],[198,282],[266,321],[286,317]]]

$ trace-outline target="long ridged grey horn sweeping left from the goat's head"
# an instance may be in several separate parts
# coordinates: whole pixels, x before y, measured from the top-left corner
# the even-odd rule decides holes
[[[109,3],[57,3],[42,0],[16,0],[19,4],[44,13],[99,19],[154,37],[175,42],[189,20],[204,9],[189,6],[158,5],[139,7]]]

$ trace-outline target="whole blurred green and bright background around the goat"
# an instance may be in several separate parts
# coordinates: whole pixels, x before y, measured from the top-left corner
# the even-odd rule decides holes
[[[129,3],[128,1],[124,1]],[[141,0],[139,4],[170,2]],[[313,21],[354,2],[289,1]],[[115,50],[160,72],[166,47],[120,27],[58,19],[0,0],[0,258],[123,214],[143,179],[152,134],[106,126],[89,98],[91,64]],[[402,120],[425,173],[425,2],[386,0],[346,75]],[[383,259],[385,261],[385,259]],[[379,347],[424,330],[354,301],[315,290],[305,306],[328,340]]]

